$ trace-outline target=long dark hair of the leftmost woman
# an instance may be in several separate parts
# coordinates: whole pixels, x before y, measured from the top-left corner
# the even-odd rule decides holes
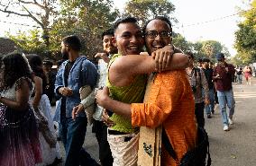
[[[10,88],[21,77],[32,79],[32,70],[25,57],[20,53],[10,53],[2,58],[4,65],[4,87]]]

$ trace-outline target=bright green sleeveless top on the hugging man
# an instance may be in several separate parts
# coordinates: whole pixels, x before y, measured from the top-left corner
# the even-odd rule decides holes
[[[109,66],[111,66],[116,57],[121,57],[121,55],[115,54],[114,57],[112,57],[110,60]],[[129,104],[143,102],[146,84],[147,74],[137,75],[134,78],[133,83],[128,86],[114,86],[109,82],[108,77],[106,79],[106,86],[109,88],[111,98]],[[131,120],[124,118],[123,116],[114,113],[110,119],[115,123],[114,127],[111,128],[116,131],[133,133],[136,130],[136,128],[132,127]]]

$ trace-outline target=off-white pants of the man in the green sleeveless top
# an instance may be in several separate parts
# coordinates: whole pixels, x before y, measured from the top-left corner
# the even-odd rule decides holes
[[[114,158],[113,166],[137,166],[139,133],[127,135],[107,134],[107,141]]]

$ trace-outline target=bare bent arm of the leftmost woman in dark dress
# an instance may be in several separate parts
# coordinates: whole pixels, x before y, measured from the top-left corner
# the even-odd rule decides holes
[[[16,100],[9,100],[5,97],[0,98],[0,102],[4,103],[11,109],[24,110],[28,108],[30,99],[30,87],[27,81],[22,80],[20,88],[16,90]]]

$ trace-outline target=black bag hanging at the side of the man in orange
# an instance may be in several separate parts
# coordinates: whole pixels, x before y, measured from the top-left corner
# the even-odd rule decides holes
[[[165,146],[169,155],[178,163],[178,166],[210,166],[211,165],[211,155],[209,152],[209,141],[206,130],[203,127],[197,127],[197,146],[185,153],[180,162],[178,162],[178,157],[169,143],[169,138],[162,130],[162,144]],[[207,157],[207,162],[206,162]]]

